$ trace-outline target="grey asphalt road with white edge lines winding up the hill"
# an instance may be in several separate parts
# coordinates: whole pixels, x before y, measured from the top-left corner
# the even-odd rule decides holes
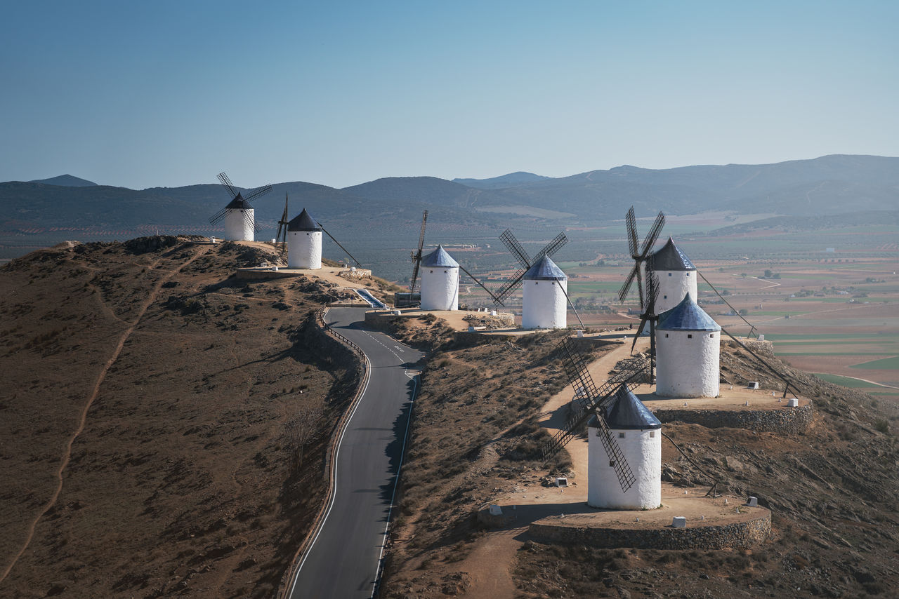
[[[334,457],[334,498],[289,589],[291,599],[368,599],[417,391],[408,372],[423,354],[362,322],[366,308],[333,308],[327,322],[369,358],[369,382]]]

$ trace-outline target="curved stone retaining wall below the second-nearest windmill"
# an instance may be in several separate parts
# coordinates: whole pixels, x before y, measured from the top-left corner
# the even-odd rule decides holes
[[[660,421],[679,420],[707,428],[746,428],[760,433],[804,433],[812,423],[812,405],[778,410],[655,410]]]

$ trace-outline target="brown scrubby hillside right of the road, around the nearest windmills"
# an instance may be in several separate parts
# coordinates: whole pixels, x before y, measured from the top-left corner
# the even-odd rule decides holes
[[[439,328],[439,322],[428,327]],[[415,335],[428,339],[421,327]],[[751,551],[598,550],[534,542],[526,529],[487,531],[474,513],[533,483],[534,417],[565,383],[556,338],[438,344],[422,376],[382,596],[750,597],[895,596],[899,577],[897,410],[780,364],[814,401],[813,426],[779,436],[671,423],[663,478],[700,494],[718,481],[755,496],[774,533]],[[723,348],[726,377],[778,389],[740,349]],[[578,481],[584,484],[584,481]]]

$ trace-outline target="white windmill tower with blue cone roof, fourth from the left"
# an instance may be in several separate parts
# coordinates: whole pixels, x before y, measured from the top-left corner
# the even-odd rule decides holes
[[[565,329],[568,326],[568,277],[544,255],[524,274],[521,284],[521,328]]]

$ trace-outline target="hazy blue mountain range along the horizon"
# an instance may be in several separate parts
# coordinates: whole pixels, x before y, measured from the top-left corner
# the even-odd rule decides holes
[[[431,212],[429,222],[501,226],[515,219],[532,225],[583,225],[658,210],[682,215],[709,210],[738,214],[823,216],[899,206],[899,158],[829,155],[773,164],[686,166],[650,170],[619,166],[549,178],[513,172],[491,179],[388,177],[335,189],[301,181],[274,185],[257,199],[256,217],[273,236],[284,198],[290,216],[307,209],[323,225],[347,219],[406,226]],[[230,200],[218,184],[127,189],[97,185],[72,175],[0,183],[0,235],[41,227],[191,225],[208,219]],[[271,232],[271,233],[269,233]]]

